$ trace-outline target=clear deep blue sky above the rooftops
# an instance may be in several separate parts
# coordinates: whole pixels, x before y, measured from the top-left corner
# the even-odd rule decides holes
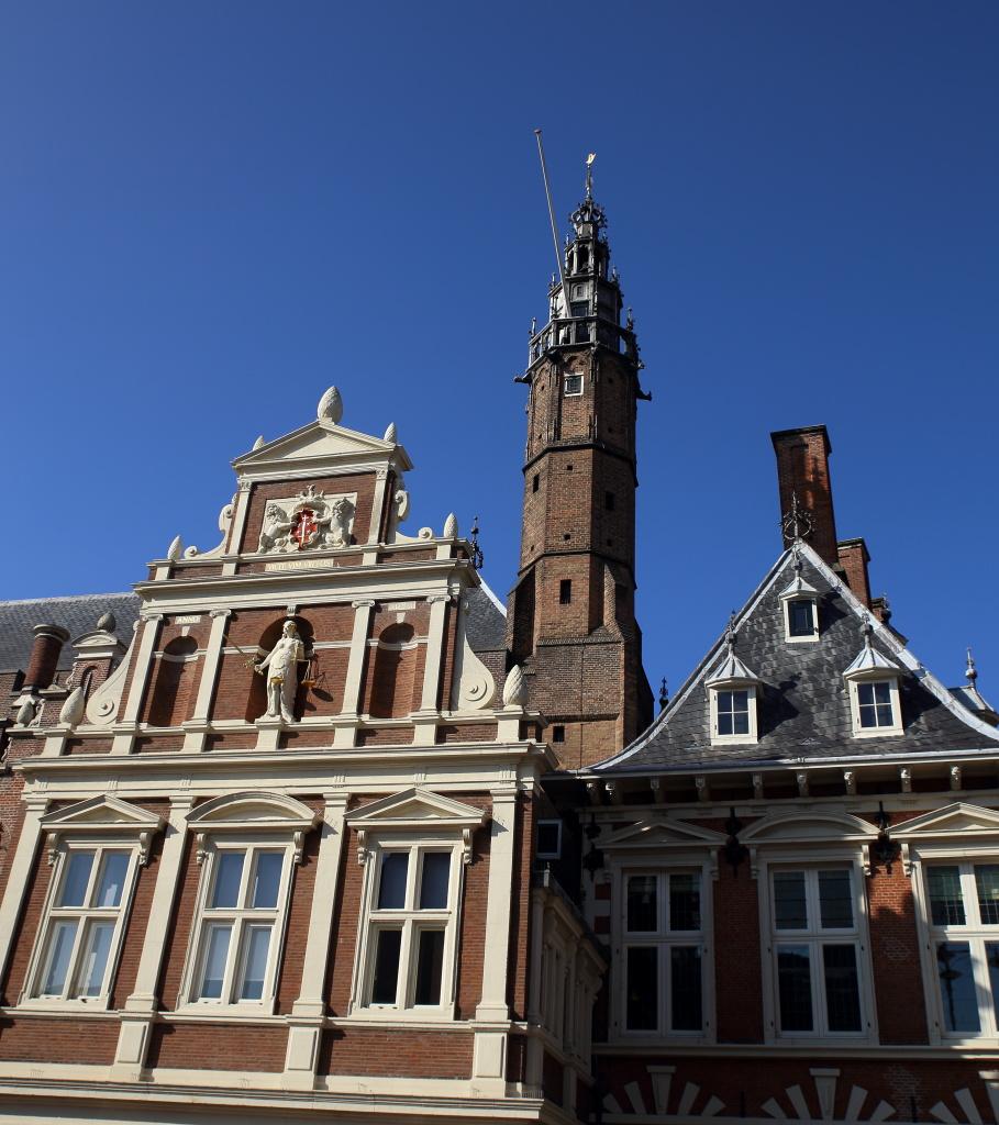
[[[771,430],[999,703],[999,6],[0,4],[0,596],[217,540],[228,461],[399,426],[412,526],[516,562],[526,333],[583,158],[633,305],[639,611],[676,687],[780,550]]]

